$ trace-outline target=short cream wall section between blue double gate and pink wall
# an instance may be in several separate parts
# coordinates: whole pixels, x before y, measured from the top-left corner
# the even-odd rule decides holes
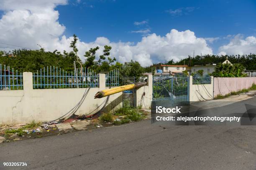
[[[212,100],[213,98],[213,77],[211,76],[211,84],[193,85],[192,76],[189,76],[189,101]]]

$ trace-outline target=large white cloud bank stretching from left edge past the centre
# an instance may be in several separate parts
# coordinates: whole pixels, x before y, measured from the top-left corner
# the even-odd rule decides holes
[[[0,0],[1,1],[1,0]],[[65,26],[58,21],[59,13],[54,10],[56,5],[67,4],[66,0],[2,0],[0,10],[5,13],[0,18],[0,42],[20,45],[38,49],[40,44],[45,50],[70,51],[70,42],[73,37],[64,35]],[[140,30],[139,30],[140,31]],[[149,33],[150,30],[142,30],[140,33]],[[93,42],[77,42],[79,56],[84,60],[84,52],[91,47],[99,46],[97,56],[102,53],[104,45],[110,45],[112,57],[119,62],[137,60],[142,66],[153,64],[153,62],[164,62],[174,59],[180,60],[192,54],[212,54],[212,49],[207,45],[204,38],[198,38],[195,33],[186,30],[178,31],[172,29],[164,36],[155,33],[142,37],[141,41],[133,42],[111,42],[107,37],[97,37]],[[11,50],[13,46],[3,46],[0,50]]]

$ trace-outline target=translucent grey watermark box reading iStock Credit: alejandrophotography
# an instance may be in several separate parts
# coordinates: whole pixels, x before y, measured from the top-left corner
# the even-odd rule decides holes
[[[245,102],[250,102],[250,100]],[[253,103],[253,101],[251,102]],[[168,123],[171,125],[256,125],[256,106],[251,105],[251,103],[206,101],[174,104],[176,103],[152,102],[151,123]]]

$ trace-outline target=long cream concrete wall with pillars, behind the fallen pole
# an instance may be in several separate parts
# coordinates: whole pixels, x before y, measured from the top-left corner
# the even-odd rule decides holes
[[[31,72],[23,72],[23,90],[0,90],[0,124],[55,120],[77,105],[84,92],[88,90],[88,88],[33,89],[32,79]],[[94,95],[105,88],[105,74],[100,74],[99,87],[90,88],[87,97],[75,114],[87,115],[95,110],[106,97],[94,99]],[[152,75],[149,75],[148,85],[136,91],[137,106],[149,108],[152,100]],[[144,91],[145,96],[143,96]],[[111,95],[104,111],[122,107],[122,94],[123,92],[119,92]]]

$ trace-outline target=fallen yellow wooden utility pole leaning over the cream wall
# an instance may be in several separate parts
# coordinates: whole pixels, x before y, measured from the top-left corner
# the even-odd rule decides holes
[[[94,96],[94,98],[96,99],[96,98],[106,97],[108,95],[113,95],[115,93],[123,92],[125,90],[142,87],[146,84],[147,84],[147,82],[137,82],[137,83],[131,84],[131,85],[123,85],[123,86],[119,86],[119,87],[102,90],[102,91],[97,92],[96,95]]]

